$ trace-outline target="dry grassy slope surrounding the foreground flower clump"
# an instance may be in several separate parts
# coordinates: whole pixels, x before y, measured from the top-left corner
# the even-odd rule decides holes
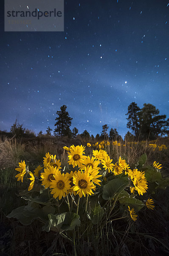
[[[162,139],[163,140],[163,139]],[[86,141],[87,143],[88,141]],[[92,142],[93,143],[93,142]],[[91,143],[91,144],[92,144]],[[85,144],[80,140],[62,140],[54,138],[32,138],[0,141],[0,208],[1,208],[1,231],[0,231],[0,255],[167,255],[166,247],[151,236],[160,239],[167,245],[168,234],[168,207],[169,190],[157,191],[153,195],[155,201],[154,211],[139,212],[139,219],[135,223],[125,221],[115,221],[113,226],[109,225],[107,230],[95,230],[89,228],[90,241],[79,239],[78,232],[75,238],[75,246],[66,238],[54,232],[46,233],[42,231],[42,224],[34,221],[30,226],[22,226],[16,219],[8,219],[6,215],[12,209],[25,204],[25,201],[17,197],[20,189],[28,187],[28,183],[16,182],[14,170],[20,160],[25,160],[30,169],[42,164],[42,159],[46,152],[56,154],[61,159],[63,166],[67,157],[63,152],[64,145]],[[106,150],[113,157],[113,162],[118,157],[124,157],[130,166],[145,151],[148,154],[148,163],[154,160],[163,164],[163,176],[168,176],[169,172],[169,150],[153,151],[146,147],[146,144],[133,144],[124,147],[111,146]],[[168,140],[160,141],[159,144],[168,144]],[[167,146],[167,145],[166,145]],[[169,146],[168,146],[169,148]],[[91,148],[87,148],[87,154],[92,153]],[[146,233],[147,235],[140,234]],[[97,236],[96,236],[97,234]],[[169,247],[169,244],[168,244]],[[115,248],[115,250],[114,250]],[[114,252],[114,254],[113,254]],[[107,253],[107,254],[106,254]]]

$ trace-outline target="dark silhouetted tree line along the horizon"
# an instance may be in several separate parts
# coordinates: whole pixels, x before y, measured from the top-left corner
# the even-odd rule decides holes
[[[78,134],[78,129],[74,127],[71,131],[71,121],[73,118],[69,116],[68,111],[66,111],[66,105],[63,105],[60,108],[60,111],[57,111],[56,123],[54,126],[54,136],[68,136],[69,138],[76,138]],[[127,132],[124,139],[126,140],[154,140],[157,137],[169,134],[169,119],[166,119],[166,115],[159,115],[159,110],[156,109],[154,105],[144,103],[143,108],[139,108],[135,102],[132,102],[128,106],[127,116],[127,128],[130,131]],[[86,139],[96,139],[96,140],[121,140],[121,136],[118,134],[118,131],[113,128],[110,128],[108,133],[108,125],[102,125],[102,131],[100,134],[97,134],[96,137],[93,134],[90,137],[90,134],[87,130],[83,131],[80,136]],[[22,136],[22,134],[31,134],[35,136],[33,131],[23,128],[23,124],[20,125],[15,123],[11,126],[10,132],[17,137]],[[42,131],[39,132],[38,136],[51,136],[52,129],[48,126],[46,129],[46,134],[43,134]]]

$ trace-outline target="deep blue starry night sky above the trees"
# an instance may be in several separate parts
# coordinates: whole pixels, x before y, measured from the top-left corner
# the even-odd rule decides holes
[[[62,105],[94,136],[124,137],[131,102],[169,117],[169,0],[68,0],[64,32],[4,32],[0,7],[1,131],[54,130]]]

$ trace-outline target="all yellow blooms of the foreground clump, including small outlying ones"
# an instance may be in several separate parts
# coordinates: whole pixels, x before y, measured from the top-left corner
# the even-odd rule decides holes
[[[38,166],[34,173],[32,173],[26,168],[25,161],[21,161],[19,167],[16,168],[19,174],[15,177],[23,182],[24,175],[28,173],[31,180],[28,188],[29,191],[33,188],[36,180],[41,180],[45,189],[50,188],[53,197],[60,200],[62,197],[68,196],[68,194],[71,196],[79,195],[79,198],[94,194],[96,185],[101,186],[101,179],[99,178],[102,177],[106,181],[106,177],[100,174],[100,170],[102,174],[104,171],[105,175],[107,172],[112,172],[113,175],[120,175],[124,172],[129,177],[131,193],[134,193],[134,191],[137,191],[139,195],[146,193],[148,186],[145,173],[138,171],[138,169],[132,171],[123,158],[119,157],[118,162],[113,164],[113,159],[110,159],[107,151],[103,149],[99,151],[93,150],[93,156],[90,157],[84,155],[85,147],[82,145],[71,145],[70,148],[66,146],[63,148],[68,152],[68,164],[72,165],[75,170],[71,170],[70,173],[65,173],[65,170],[61,172],[60,160],[56,159],[56,155],[49,154],[48,152],[43,157],[44,167]],[[158,169],[162,168],[156,162],[153,163],[153,166]],[[42,172],[43,168],[44,171]],[[153,208],[151,200],[149,199],[146,203],[149,209]],[[130,210],[129,207],[129,211],[130,215],[133,216],[132,219],[135,221],[137,215],[135,215],[134,209]]]

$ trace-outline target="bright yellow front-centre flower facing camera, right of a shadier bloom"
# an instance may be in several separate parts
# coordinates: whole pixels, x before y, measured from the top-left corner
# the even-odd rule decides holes
[[[90,181],[90,175],[88,172],[78,171],[73,175],[73,190],[76,191],[76,194],[79,194],[81,198],[82,195],[92,195],[94,194],[92,189],[95,189],[96,186],[93,185],[93,182]]]

